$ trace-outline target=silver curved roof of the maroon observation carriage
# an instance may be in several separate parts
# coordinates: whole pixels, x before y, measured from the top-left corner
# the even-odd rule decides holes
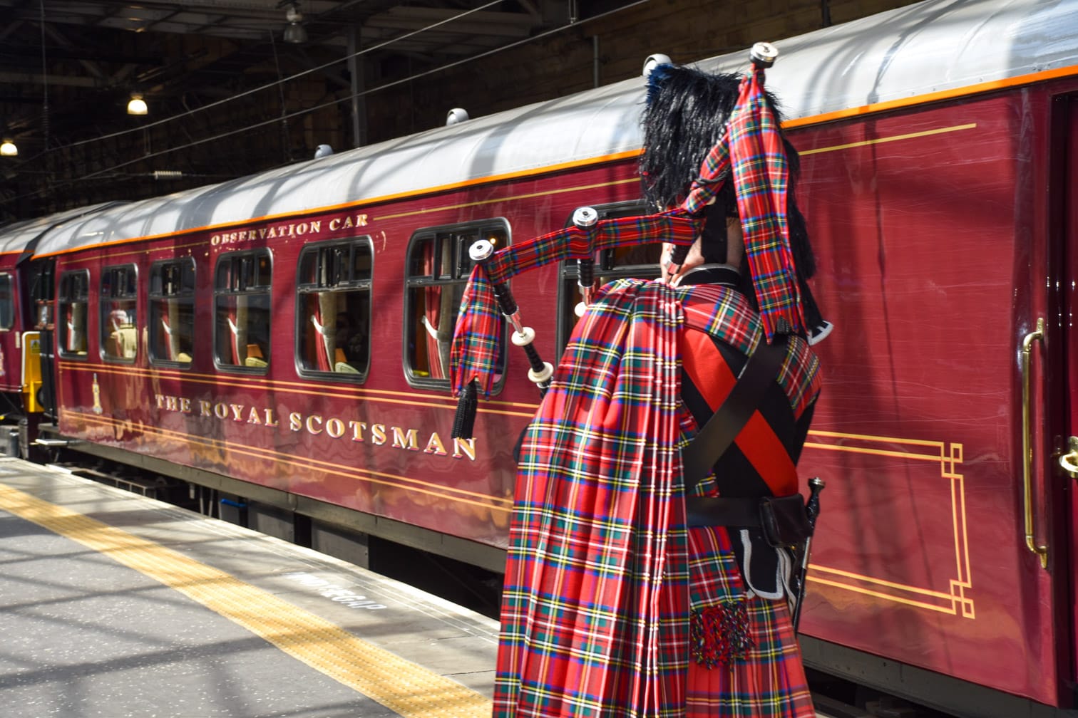
[[[776,42],[787,121],[1078,66],[1078,0],[927,0]],[[748,48],[700,62],[738,72]],[[1078,68],[1075,69],[1078,72]],[[108,209],[37,254],[367,203],[640,147],[642,78],[261,174]],[[2,230],[0,230],[2,233]]]

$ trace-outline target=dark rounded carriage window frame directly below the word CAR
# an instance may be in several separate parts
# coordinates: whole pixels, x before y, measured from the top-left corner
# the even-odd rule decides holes
[[[344,259],[341,256],[342,252],[347,253],[347,257]],[[312,263],[309,269],[313,271],[313,276],[310,277],[306,276],[307,263]],[[361,264],[367,265],[365,272],[360,268]],[[296,261],[295,341],[293,342],[295,370],[300,376],[351,383],[367,381],[371,370],[373,286],[374,242],[370,235],[361,235],[346,240],[333,239],[312,242],[300,251]],[[364,294],[365,296],[363,296]],[[349,350],[349,346],[334,346],[334,357],[332,360],[328,356],[324,357],[331,367],[328,369],[310,368],[309,366],[312,357],[307,344],[313,337],[312,327],[307,321],[310,314],[306,305],[312,295],[344,296],[345,308],[341,308],[342,302],[337,298],[333,320],[323,322],[322,326],[335,333],[337,328],[336,316],[340,312],[346,312],[351,321],[359,326],[359,329],[353,335],[354,340],[359,337],[357,344],[351,344],[349,341],[350,346],[358,348]],[[321,305],[319,304],[319,306]],[[336,356],[336,350],[345,355],[343,362]],[[317,352],[317,349],[315,351]],[[356,353],[353,353],[354,351]],[[317,356],[315,361],[318,361]]]

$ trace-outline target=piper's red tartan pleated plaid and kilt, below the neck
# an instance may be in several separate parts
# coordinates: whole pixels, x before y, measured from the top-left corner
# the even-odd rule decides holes
[[[696,704],[733,696],[735,712],[720,715],[813,715],[801,710],[812,704],[783,601],[746,602],[754,645],[733,667],[701,675],[689,659],[690,609],[740,601],[744,589],[720,534],[685,527],[680,446],[695,431],[679,398],[685,307],[704,318],[694,325],[735,346],[762,340],[758,316],[730,290],[611,283],[573,332],[528,427],[502,592],[497,717],[681,718],[711,715]],[[811,357],[800,344],[791,354]],[[786,386],[788,395],[815,395],[816,364],[807,364],[787,375],[805,382]],[[757,689],[760,676],[779,675],[783,682]],[[716,687],[731,692],[702,692]]]

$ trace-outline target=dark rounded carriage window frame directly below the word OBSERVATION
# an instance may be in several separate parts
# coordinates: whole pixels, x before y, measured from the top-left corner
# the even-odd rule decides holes
[[[260,259],[265,258],[267,267],[263,272],[260,268]],[[245,262],[250,261],[249,264],[245,266]],[[222,265],[229,263],[232,271],[224,272],[222,276]],[[238,271],[236,271],[238,269]],[[260,283],[263,276],[265,276],[266,282]],[[259,248],[253,250],[243,250],[239,252],[225,252],[217,257],[217,262],[213,264],[213,367],[220,371],[227,371],[233,374],[246,374],[246,375],[265,375],[270,371],[270,357],[272,351],[272,339],[273,339],[273,253],[267,248]],[[226,285],[222,286],[222,279],[225,280]],[[263,326],[260,327],[264,330],[264,335],[255,337],[255,339],[261,338],[262,341],[248,341],[250,339],[250,326],[254,324],[251,321],[245,322],[244,335],[244,357],[237,360],[240,363],[222,360],[221,347],[223,339],[232,339],[233,335],[222,337],[222,326],[227,326],[230,319],[227,315],[224,318],[225,321],[222,322],[220,314],[221,300],[222,298],[236,297],[237,301],[239,297],[246,297],[248,304],[250,299],[259,300],[261,305],[264,301],[264,307],[259,306],[254,309],[259,312],[265,314],[265,322]],[[227,306],[227,301],[225,304]],[[248,306],[249,310],[250,307]],[[235,343],[235,339],[232,339],[232,343]],[[232,343],[229,346],[231,347]],[[251,349],[252,344],[257,344],[257,354]],[[238,344],[235,347],[235,351],[239,351]]]

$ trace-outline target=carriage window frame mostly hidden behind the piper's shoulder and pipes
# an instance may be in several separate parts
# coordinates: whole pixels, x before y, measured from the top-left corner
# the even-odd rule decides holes
[[[654,210],[648,207],[648,203],[644,199],[628,199],[620,202],[609,202],[607,205],[591,205],[592,209],[598,213],[599,220],[610,220],[614,217],[626,217],[626,216],[646,216],[648,214],[654,214]],[[572,215],[576,212],[569,213],[569,217],[565,222],[565,226],[572,225]],[[661,242],[654,242],[660,244]],[[641,247],[647,247],[652,244],[652,242],[647,242]],[[595,286],[603,286],[604,284],[611,282],[616,279],[655,279],[660,277],[661,271],[659,269],[659,253],[655,252],[655,262],[652,265],[649,263],[642,264],[617,264],[617,258],[614,255],[616,250],[603,250],[599,256],[596,257],[595,262]],[[646,269],[646,271],[645,271]],[[577,286],[577,279],[580,277],[580,272],[577,269],[576,259],[565,259],[558,263],[557,271],[557,304],[556,307],[556,329],[554,334],[554,342],[556,355],[562,356],[565,351],[566,344],[569,342],[569,335],[572,334],[572,328],[576,326],[576,314],[573,310],[580,301],[579,288]],[[568,322],[568,318],[573,318],[573,321]]]

